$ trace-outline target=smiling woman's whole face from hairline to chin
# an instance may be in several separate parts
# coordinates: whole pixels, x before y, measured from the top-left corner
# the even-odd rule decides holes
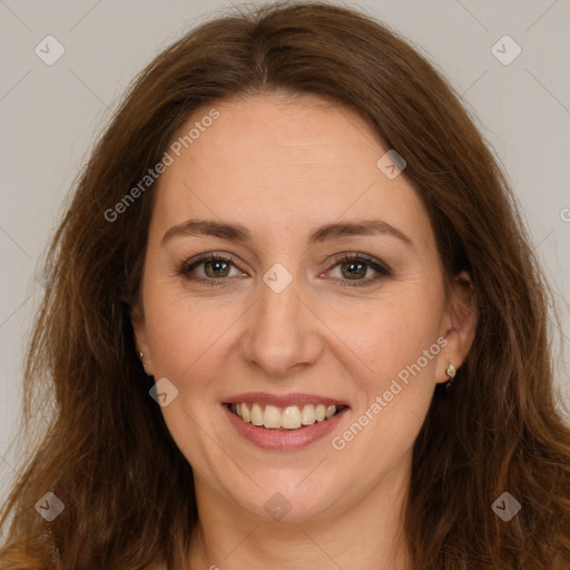
[[[361,118],[315,97],[213,107],[160,178],[137,345],[199,502],[341,514],[405,487],[470,333],[420,199]]]

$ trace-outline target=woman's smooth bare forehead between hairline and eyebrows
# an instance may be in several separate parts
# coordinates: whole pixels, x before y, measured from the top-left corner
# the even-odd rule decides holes
[[[213,121],[205,117],[216,116]],[[208,125],[208,126],[206,126]],[[179,156],[163,174],[159,225],[188,217],[309,229],[342,218],[380,216],[419,239],[429,219],[403,176],[377,167],[386,153],[355,112],[315,96],[234,98],[197,110],[180,129]],[[181,140],[181,138],[178,138]],[[255,228],[254,228],[255,229]]]

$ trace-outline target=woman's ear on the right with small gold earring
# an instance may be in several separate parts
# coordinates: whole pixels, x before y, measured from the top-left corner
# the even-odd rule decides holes
[[[476,291],[469,272],[455,275],[448,307],[443,315],[440,334],[448,344],[438,356],[436,381],[448,382],[448,366],[459,368],[466,358],[473,340],[479,315],[476,311]]]

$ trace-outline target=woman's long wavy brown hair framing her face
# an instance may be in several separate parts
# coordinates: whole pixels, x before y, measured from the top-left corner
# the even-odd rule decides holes
[[[513,194],[424,58],[387,27],[320,2],[193,30],[141,72],[95,148],[47,254],[26,424],[47,397],[53,410],[3,509],[1,568],[187,563],[193,472],[149,397],[129,321],[156,183],[120,215],[105,213],[196,109],[269,91],[318,95],[363,116],[405,158],[445,278],[466,269],[476,289],[473,346],[452,389],[436,389],[414,446],[406,532],[416,568],[568,570],[570,432],[552,395],[551,297]],[[46,492],[65,504],[49,523],[35,509]],[[510,522],[491,509],[503,492],[522,505]]]

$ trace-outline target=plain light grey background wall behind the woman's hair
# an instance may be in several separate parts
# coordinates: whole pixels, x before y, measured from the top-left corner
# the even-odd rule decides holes
[[[557,292],[557,386],[570,404],[569,0],[348,6],[402,32],[443,71],[507,170]],[[0,498],[19,463],[10,442],[18,431],[23,340],[42,293],[38,259],[63,199],[129,81],[219,8],[232,6],[0,0]],[[48,35],[66,50],[52,66],[35,53]],[[509,66],[491,51],[504,35],[522,49]]]

